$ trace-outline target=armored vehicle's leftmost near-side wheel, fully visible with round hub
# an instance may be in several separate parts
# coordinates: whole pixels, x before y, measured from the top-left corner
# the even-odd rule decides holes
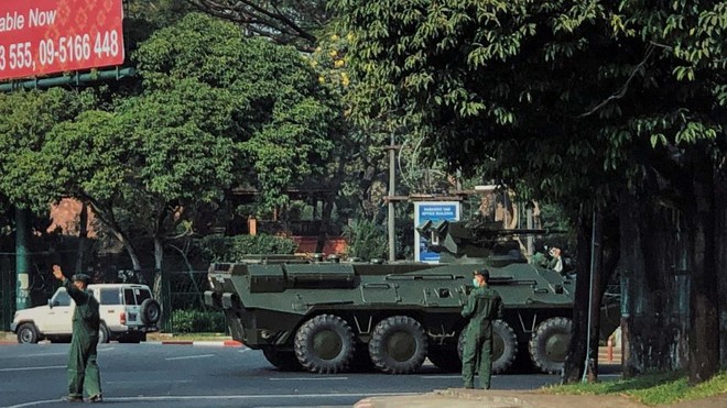
[[[295,333],[295,355],[313,373],[335,374],[348,368],[356,351],[354,331],[338,316],[321,315]]]

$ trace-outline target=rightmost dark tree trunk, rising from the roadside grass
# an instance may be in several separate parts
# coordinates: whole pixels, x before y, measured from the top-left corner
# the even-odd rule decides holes
[[[719,370],[719,298],[715,253],[715,206],[712,168],[697,170],[690,229],[692,260],[690,384],[703,383]]]

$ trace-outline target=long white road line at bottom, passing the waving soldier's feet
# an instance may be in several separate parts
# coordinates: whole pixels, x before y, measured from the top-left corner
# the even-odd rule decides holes
[[[194,400],[219,400],[219,399],[295,399],[295,398],[348,398],[348,397],[388,397],[388,396],[408,396],[419,395],[421,393],[376,393],[376,394],[265,394],[265,395],[184,395],[184,396],[142,396],[142,397],[104,397],[108,403],[132,403],[132,401],[194,401]],[[24,408],[39,405],[58,404],[59,399],[45,399],[18,405],[11,405],[7,408]]]

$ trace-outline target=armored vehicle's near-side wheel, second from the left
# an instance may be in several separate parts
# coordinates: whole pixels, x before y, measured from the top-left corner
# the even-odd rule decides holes
[[[422,367],[427,339],[422,324],[409,316],[381,320],[371,333],[369,354],[377,368],[388,374],[409,374]]]

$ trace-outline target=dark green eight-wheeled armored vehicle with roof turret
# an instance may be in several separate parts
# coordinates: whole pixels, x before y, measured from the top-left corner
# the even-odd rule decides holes
[[[493,372],[518,360],[547,373],[563,367],[575,282],[529,264],[512,240],[543,231],[476,221],[427,221],[417,229],[442,263],[251,256],[213,264],[205,302],[225,312],[235,340],[262,350],[280,370],[406,374],[428,357],[456,371],[471,272],[487,267],[506,306],[493,326]]]

